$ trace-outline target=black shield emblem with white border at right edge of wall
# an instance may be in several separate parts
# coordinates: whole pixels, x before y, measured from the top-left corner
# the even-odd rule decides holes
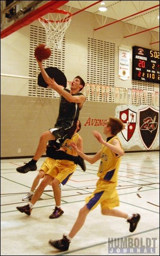
[[[147,150],[150,150],[159,130],[159,111],[151,106],[139,110],[139,132]]]

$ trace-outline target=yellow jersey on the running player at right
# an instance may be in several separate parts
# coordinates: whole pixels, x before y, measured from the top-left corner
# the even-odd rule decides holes
[[[112,144],[112,141],[114,139],[119,140],[119,138],[115,136],[115,137],[112,137],[107,143]],[[121,147],[122,147],[122,144],[121,144]],[[108,147],[103,145],[101,162],[98,170],[98,176],[101,179],[106,181],[117,182],[120,163],[121,163],[121,156],[117,155],[115,152],[111,151]]]

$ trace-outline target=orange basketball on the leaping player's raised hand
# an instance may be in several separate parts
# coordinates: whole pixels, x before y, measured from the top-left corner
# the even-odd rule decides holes
[[[38,45],[34,51],[34,55],[41,61],[51,56],[51,49],[45,48],[45,44]]]

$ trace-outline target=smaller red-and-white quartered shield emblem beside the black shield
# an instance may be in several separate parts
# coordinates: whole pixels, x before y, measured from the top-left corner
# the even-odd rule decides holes
[[[120,119],[125,124],[124,130],[121,132],[126,141],[129,141],[134,133],[136,125],[136,112],[126,109],[120,111]]]

